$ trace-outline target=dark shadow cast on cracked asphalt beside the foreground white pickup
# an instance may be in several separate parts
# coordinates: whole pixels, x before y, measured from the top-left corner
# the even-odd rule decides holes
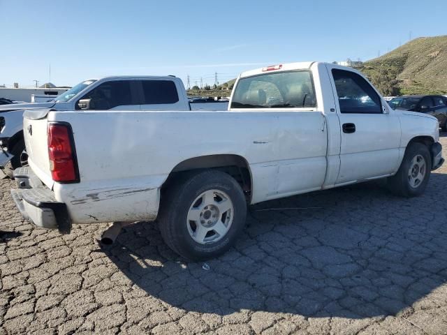
[[[183,262],[152,223],[101,248],[148,295],[187,311],[395,315],[445,304],[446,188],[447,174],[432,174],[420,198],[375,182],[256,205],[236,246],[209,270]]]

